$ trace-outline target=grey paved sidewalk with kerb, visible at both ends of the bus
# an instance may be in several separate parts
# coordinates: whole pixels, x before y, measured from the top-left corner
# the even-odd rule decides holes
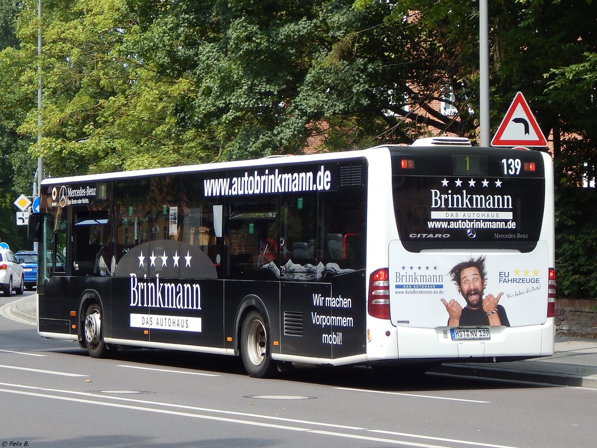
[[[35,300],[35,295],[13,300],[0,308],[0,315],[35,326]],[[556,335],[555,354],[548,358],[496,364],[444,363],[432,372],[597,388],[597,338]]]

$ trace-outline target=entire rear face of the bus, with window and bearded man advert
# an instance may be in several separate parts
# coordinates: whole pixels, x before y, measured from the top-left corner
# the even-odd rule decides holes
[[[553,354],[549,155],[478,147],[389,152],[398,238],[389,241],[387,286],[398,358]],[[477,277],[476,294],[465,274]]]

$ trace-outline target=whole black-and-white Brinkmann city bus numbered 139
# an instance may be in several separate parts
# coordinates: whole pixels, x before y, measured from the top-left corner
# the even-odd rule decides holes
[[[552,160],[456,140],[45,179],[38,333],[257,378],[552,355]]]

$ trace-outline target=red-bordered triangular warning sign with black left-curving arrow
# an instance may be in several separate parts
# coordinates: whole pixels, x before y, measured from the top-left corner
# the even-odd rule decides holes
[[[547,140],[521,92],[516,93],[491,146],[547,146]]]

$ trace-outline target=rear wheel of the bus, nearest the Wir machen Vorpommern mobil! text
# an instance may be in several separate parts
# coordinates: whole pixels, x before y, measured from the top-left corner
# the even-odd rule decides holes
[[[260,312],[251,311],[241,330],[242,363],[249,376],[266,378],[276,372],[276,363],[269,354],[270,332]]]

